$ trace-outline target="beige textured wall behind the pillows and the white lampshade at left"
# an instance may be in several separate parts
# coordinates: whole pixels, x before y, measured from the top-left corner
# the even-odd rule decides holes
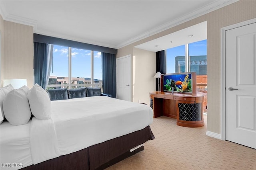
[[[33,27],[4,21],[4,54],[1,79],[27,79],[28,87],[34,84]],[[1,23],[2,27],[2,23]]]

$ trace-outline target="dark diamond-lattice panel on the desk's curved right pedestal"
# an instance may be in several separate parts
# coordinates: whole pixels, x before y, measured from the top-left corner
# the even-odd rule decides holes
[[[178,103],[179,119],[184,121],[200,121],[201,120],[201,103],[186,104]]]

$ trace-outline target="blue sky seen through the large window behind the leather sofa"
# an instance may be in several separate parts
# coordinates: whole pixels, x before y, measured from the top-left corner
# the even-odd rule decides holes
[[[72,48],[72,77],[91,77],[91,51]],[[68,77],[68,47],[54,45],[51,76]],[[102,79],[101,52],[94,51],[94,78]]]

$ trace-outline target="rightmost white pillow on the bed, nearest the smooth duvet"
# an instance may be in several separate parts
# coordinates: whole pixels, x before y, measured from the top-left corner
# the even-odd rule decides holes
[[[50,119],[52,115],[50,97],[41,86],[35,84],[27,97],[31,112],[37,119]]]

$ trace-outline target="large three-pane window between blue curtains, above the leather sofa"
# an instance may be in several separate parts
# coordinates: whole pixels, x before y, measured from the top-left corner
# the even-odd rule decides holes
[[[47,89],[85,86],[102,88],[101,52],[54,45]]]

